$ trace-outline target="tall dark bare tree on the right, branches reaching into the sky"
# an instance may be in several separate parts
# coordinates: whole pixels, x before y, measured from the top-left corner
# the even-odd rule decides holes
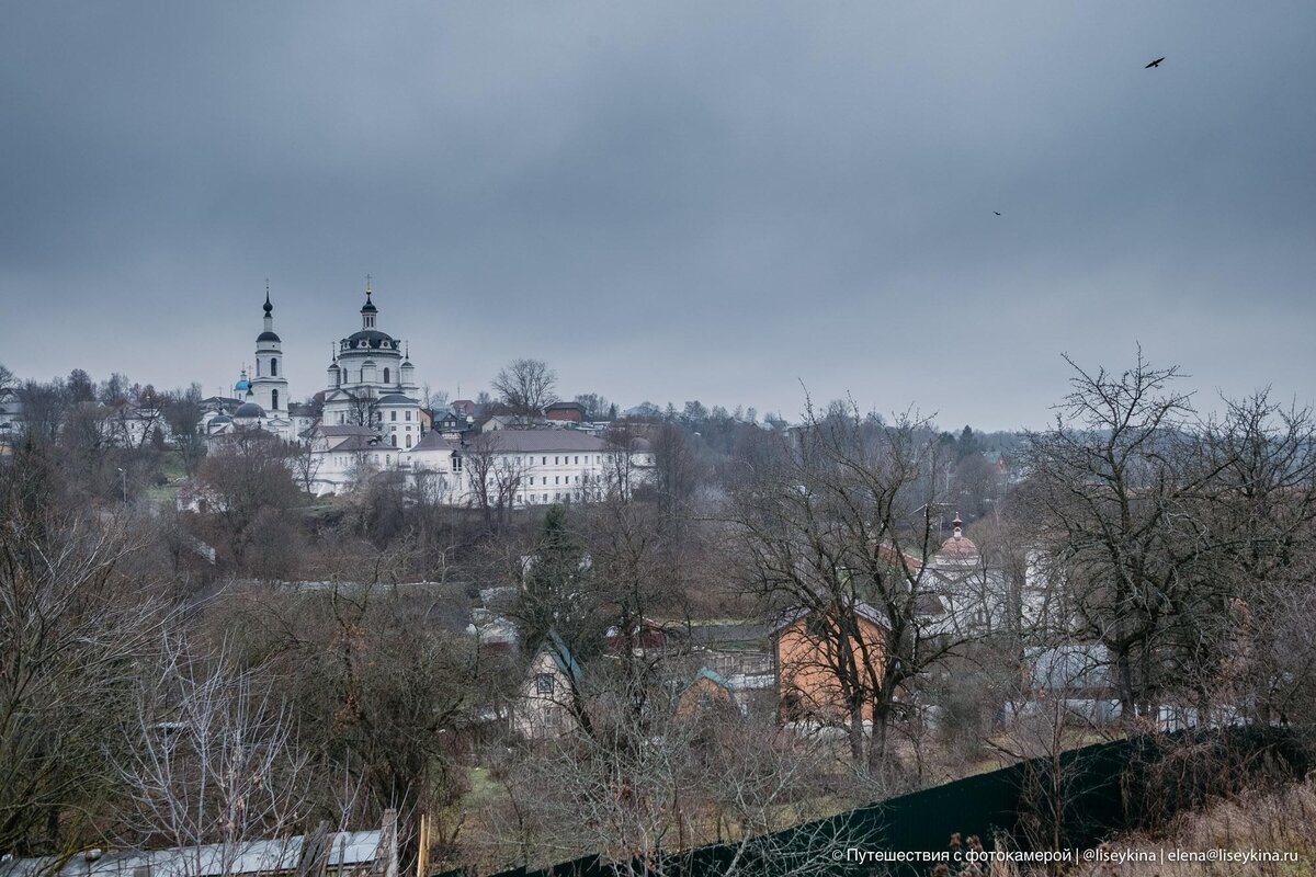
[[[1054,427],[1028,437],[1026,498],[1078,632],[1109,650],[1134,727],[1155,719],[1191,668],[1190,685],[1209,697],[1196,671],[1230,638],[1234,588],[1263,580],[1286,554],[1278,534],[1316,509],[1311,427],[1302,417],[1287,439],[1258,433],[1274,414],[1265,402],[1234,406],[1224,427],[1204,421],[1177,389],[1179,369],[1153,368],[1141,351],[1121,375],[1069,362],[1073,392]],[[1288,500],[1302,511],[1283,526]],[[1240,575],[1221,575],[1230,569]]]

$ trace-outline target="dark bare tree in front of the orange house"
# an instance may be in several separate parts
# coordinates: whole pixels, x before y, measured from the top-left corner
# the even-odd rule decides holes
[[[813,675],[845,715],[851,757],[874,776],[907,706],[898,692],[966,642],[929,606],[938,447],[913,417],[809,409],[775,459],[744,473],[730,508],[744,585],[776,613],[813,619]]]

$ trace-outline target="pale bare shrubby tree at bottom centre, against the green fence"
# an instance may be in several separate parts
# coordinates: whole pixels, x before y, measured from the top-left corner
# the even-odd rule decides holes
[[[707,843],[721,844],[720,874],[822,873],[834,845],[858,843],[844,820],[799,826],[838,792],[825,747],[654,682],[608,673],[590,689],[592,734],[503,767],[508,799],[486,843],[521,865],[594,852],[646,877],[688,873],[683,853]]]

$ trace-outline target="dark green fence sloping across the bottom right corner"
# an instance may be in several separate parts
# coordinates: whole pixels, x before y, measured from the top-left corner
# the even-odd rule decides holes
[[[940,852],[953,834],[976,835],[987,848],[996,836],[1008,838],[1015,849],[1086,848],[1117,831],[1163,824],[1211,795],[1266,777],[1288,781],[1305,770],[1303,747],[1274,728],[1116,740],[888,798],[744,847],[700,847],[653,870],[713,877],[734,865],[736,873],[770,876],[812,864],[837,876],[929,874],[934,865],[875,865],[846,851]],[[612,877],[617,870],[587,856],[495,877]]]

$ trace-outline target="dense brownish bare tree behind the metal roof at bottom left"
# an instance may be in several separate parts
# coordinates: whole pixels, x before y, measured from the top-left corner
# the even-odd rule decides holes
[[[296,707],[303,751],[313,756],[316,807],[337,806],[336,788],[359,785],[357,815],[399,813],[404,868],[418,857],[418,823],[433,817],[437,843],[462,827],[468,751],[461,734],[511,678],[508,667],[441,628],[451,590],[400,589],[405,548],[337,552],[333,567],[354,581],[304,594],[255,592],[225,605],[225,630],[267,659]]]

